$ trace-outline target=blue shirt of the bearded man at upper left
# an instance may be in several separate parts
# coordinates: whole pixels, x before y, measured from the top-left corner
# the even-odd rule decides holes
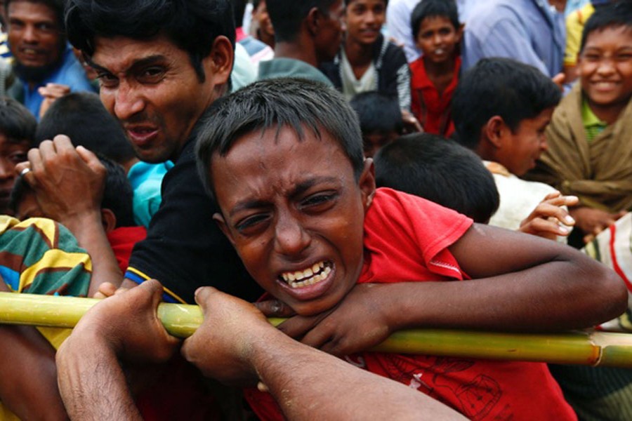
[[[53,70],[53,72],[51,72],[46,79],[37,84],[37,86],[31,89],[27,81],[21,78],[20,81],[22,81],[23,84],[24,105],[37,119],[39,119],[39,107],[41,107],[41,103],[44,102],[44,97],[39,95],[37,88],[46,86],[46,83],[67,85],[70,86],[70,91],[95,91],[90,81],[88,81],[86,72],[84,68],[81,67],[81,63],[74,57],[70,46],[67,47],[63,53],[60,67]]]

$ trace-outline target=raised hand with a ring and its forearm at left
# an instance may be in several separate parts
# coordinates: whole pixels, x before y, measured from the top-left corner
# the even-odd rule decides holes
[[[44,214],[70,229],[91,257],[88,296],[105,281],[120,285],[122,274],[101,222],[106,174],[96,155],[83,147],[75,149],[67,136],[58,135],[31,149],[28,156],[29,162],[16,170],[31,169],[25,179]]]

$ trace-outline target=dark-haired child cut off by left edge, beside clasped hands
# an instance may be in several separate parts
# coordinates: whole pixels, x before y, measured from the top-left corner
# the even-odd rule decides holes
[[[36,127],[35,117],[24,105],[13,98],[0,98],[0,214],[10,213],[15,165],[26,161]]]

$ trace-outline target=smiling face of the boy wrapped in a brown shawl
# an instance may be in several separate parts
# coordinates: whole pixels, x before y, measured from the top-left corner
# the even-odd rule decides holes
[[[581,88],[594,105],[625,105],[632,95],[632,29],[588,34],[577,62]]]

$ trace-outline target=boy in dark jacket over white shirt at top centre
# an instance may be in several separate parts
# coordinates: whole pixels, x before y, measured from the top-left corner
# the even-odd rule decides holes
[[[334,62],[321,65],[347,100],[358,93],[394,95],[400,109],[410,110],[410,71],[399,46],[381,34],[386,0],[345,0],[345,39]]]

